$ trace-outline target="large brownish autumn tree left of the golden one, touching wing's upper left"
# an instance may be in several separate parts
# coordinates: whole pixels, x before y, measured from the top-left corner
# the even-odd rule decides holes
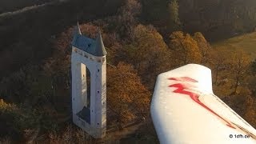
[[[156,76],[171,70],[175,62],[162,35],[153,26],[136,26],[134,36],[134,41],[124,46],[123,60],[133,64],[143,83],[153,89]]]

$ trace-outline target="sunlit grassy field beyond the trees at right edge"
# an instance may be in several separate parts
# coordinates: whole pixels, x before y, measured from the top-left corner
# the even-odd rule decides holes
[[[226,49],[242,49],[250,54],[252,59],[256,58],[256,32],[243,34],[234,38],[226,39],[222,42],[215,42],[213,47],[223,47]]]

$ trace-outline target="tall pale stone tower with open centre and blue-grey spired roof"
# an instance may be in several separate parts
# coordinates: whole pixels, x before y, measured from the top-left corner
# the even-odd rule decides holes
[[[96,39],[82,36],[78,25],[71,46],[73,122],[94,138],[103,138],[106,134],[106,50],[102,35],[98,31]]]

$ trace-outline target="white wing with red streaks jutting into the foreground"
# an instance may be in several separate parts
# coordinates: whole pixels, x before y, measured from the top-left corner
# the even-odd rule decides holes
[[[161,143],[256,143],[256,130],[213,94],[205,66],[159,74],[150,113]]]

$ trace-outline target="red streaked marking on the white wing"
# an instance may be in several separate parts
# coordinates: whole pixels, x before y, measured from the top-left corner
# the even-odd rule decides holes
[[[185,77],[183,77],[182,79],[184,79]],[[187,77],[186,77],[187,78]],[[169,78],[170,80],[176,80],[177,78]],[[196,80],[192,79],[192,78],[189,78],[187,79],[188,81],[190,82],[197,82]],[[193,81],[191,81],[193,80]],[[181,83],[176,83],[174,85],[170,85],[169,87],[176,87],[177,89],[174,90],[174,93],[178,93],[178,94],[186,94],[186,95],[189,95],[190,98],[194,101],[194,102],[197,102],[200,106],[204,107],[206,110],[209,110],[212,114],[215,114],[216,116],[218,116],[218,118],[221,118],[224,122],[226,122],[226,126],[230,126],[231,128],[235,129],[234,126],[231,125],[230,122],[226,121],[226,119],[222,118],[221,116],[219,116],[218,114],[216,114],[214,112],[214,110],[211,110],[208,106],[206,106],[205,104],[203,104],[200,100],[199,100],[199,96],[198,94],[195,94],[193,92],[190,92],[190,91],[186,91],[184,89],[187,89],[186,86],[182,85]]]

